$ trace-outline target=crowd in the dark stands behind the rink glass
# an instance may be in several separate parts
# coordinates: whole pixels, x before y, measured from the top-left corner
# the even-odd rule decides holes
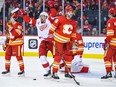
[[[43,0],[25,0],[25,10],[27,15],[31,18],[37,19],[39,14],[43,10]],[[45,0],[45,11],[49,13],[49,7],[47,2],[50,0]],[[55,1],[54,7],[58,11],[58,16],[62,15],[62,0]],[[81,31],[81,0],[65,0],[65,6],[71,5],[74,8],[74,20],[78,22],[78,31]],[[99,10],[98,10],[98,0],[83,0],[83,35],[84,36],[97,36],[99,31]],[[116,0],[100,0],[101,5],[101,34],[105,35],[106,22],[109,19],[108,10],[116,5]],[[24,9],[23,0],[5,0],[5,21],[8,22],[10,18],[10,12],[14,8]],[[23,19],[20,17],[18,21],[23,23]],[[3,8],[0,12],[0,35],[3,32]],[[37,35],[37,29],[33,25],[25,24],[25,35]]]

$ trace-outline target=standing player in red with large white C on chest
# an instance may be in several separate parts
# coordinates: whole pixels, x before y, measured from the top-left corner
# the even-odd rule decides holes
[[[57,72],[61,59],[63,59],[67,64],[67,67],[65,67],[65,77],[73,78],[69,73],[72,56],[70,56],[71,52],[67,50],[71,49],[69,46],[70,41],[76,37],[77,24],[76,21],[72,19],[72,16],[73,8],[68,5],[65,7],[65,16],[59,16],[55,19],[49,31],[50,36],[51,34],[54,34],[54,62],[52,65],[52,78],[54,79],[59,79]]]

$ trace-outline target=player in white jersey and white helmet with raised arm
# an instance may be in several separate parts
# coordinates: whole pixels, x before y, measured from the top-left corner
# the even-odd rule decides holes
[[[41,12],[37,20],[30,18],[27,15],[25,15],[23,19],[25,22],[33,24],[37,27],[38,36],[41,39],[41,43],[39,46],[39,58],[43,68],[46,71],[44,76],[47,77],[51,74],[50,64],[47,60],[47,53],[48,51],[51,51],[51,53],[53,51],[53,38],[47,38],[51,26],[51,22],[48,20],[48,14],[46,12]]]

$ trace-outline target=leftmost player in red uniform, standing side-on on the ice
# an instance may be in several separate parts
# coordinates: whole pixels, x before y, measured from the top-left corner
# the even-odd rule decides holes
[[[23,46],[23,34],[22,24],[17,22],[17,14],[13,13],[10,18],[10,25],[7,24],[7,35],[6,42],[3,45],[5,50],[5,69],[2,74],[10,73],[11,57],[16,56],[19,62],[20,72],[18,75],[24,75],[24,62],[22,58],[22,46]]]

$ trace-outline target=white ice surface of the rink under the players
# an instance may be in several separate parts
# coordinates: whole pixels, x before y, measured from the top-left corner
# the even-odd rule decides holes
[[[53,59],[48,58],[50,63]],[[80,82],[80,87],[116,87],[116,81],[101,80],[105,75],[105,68],[102,59],[83,59],[90,67],[89,73],[76,74],[76,80]],[[0,57],[0,87],[79,87],[73,79],[65,79],[64,74],[59,72],[59,82],[53,79],[44,79],[44,69],[38,57],[24,57],[25,77],[18,77],[18,62],[15,57],[11,60],[10,75],[2,75],[4,69],[4,57]],[[36,78],[37,80],[33,80]]]

